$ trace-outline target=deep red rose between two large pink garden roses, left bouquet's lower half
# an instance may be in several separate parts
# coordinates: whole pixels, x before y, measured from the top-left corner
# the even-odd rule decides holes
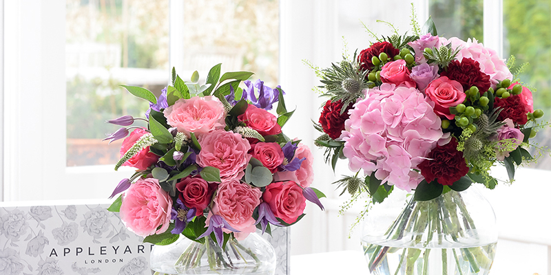
[[[217,187],[217,184],[209,184],[200,177],[185,177],[176,184],[176,189],[180,191],[180,200],[188,208],[195,208],[196,216],[201,216],[202,210],[209,206]]]

